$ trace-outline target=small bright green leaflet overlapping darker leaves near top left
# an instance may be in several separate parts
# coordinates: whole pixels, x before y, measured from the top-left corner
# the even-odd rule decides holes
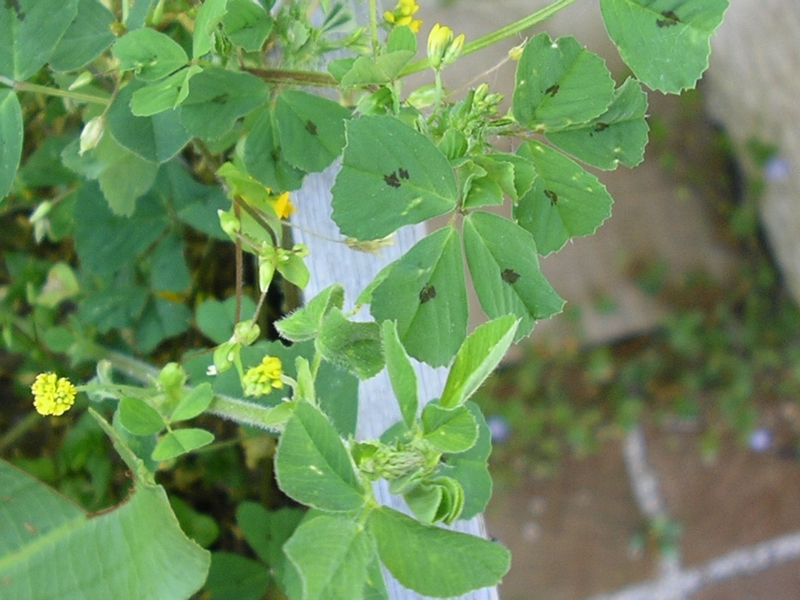
[[[121,71],[135,71],[142,81],[158,81],[183,68],[189,57],[178,42],[155,29],[130,31],[112,49]]]

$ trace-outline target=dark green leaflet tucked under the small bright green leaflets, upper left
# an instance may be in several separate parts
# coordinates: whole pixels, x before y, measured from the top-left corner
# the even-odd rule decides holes
[[[140,81],[132,81],[120,90],[106,114],[108,130],[117,142],[143,159],[167,162],[192,136],[181,125],[177,110],[166,110],[151,117],[137,117],[131,112],[133,94],[143,86]]]

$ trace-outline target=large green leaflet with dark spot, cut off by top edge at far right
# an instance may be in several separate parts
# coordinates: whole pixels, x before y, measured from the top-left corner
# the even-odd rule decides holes
[[[600,0],[608,35],[642,83],[677,94],[708,67],[728,0]]]

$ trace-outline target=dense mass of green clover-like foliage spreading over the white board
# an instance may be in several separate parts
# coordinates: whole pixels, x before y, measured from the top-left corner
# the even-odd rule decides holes
[[[506,116],[486,84],[450,101],[441,70],[472,49],[447,30],[432,61],[412,62],[423,44],[410,27],[385,23],[384,42],[378,23],[357,23],[339,3],[196,4],[0,7],[0,84],[10,88],[0,90],[0,218],[30,212],[35,240],[58,244],[3,246],[3,341],[24,357],[21,372],[73,369],[92,405],[57,459],[18,462],[96,509],[126,493],[104,434],[134,482],[127,502],[88,517],[0,463],[0,510],[12,525],[0,531],[0,579],[21,598],[160,600],[187,598],[204,580],[214,598],[277,588],[291,600],[384,599],[382,566],[425,595],[495,585],[508,551],[439,525],[479,514],[491,495],[491,435],[470,398],[511,343],[563,307],[538,257],[610,215],[600,181],[564,152],[602,169],[638,164],[648,132],[641,84],[693,85],[726,3],[603,0],[637,78],[615,89],[599,57],[542,33],[522,51]],[[642,38],[645,27],[652,35]],[[313,70],[342,50],[349,56]],[[433,83],[404,98],[402,79],[431,64]],[[510,135],[524,140],[517,153],[493,145]],[[308,248],[285,231],[292,211],[308,208],[289,192],[337,161],[332,218],[355,249],[447,219],[367,289],[348,290],[372,319],[345,307],[340,284],[303,307],[292,301],[291,286],[310,275]],[[483,210],[507,201],[510,217]],[[489,318],[469,335],[465,268]],[[263,339],[268,331],[292,345]],[[411,357],[450,369],[442,397],[421,410]],[[87,363],[97,363],[93,377]],[[358,381],[384,368],[402,420],[356,440]],[[728,403],[726,414],[739,422],[739,408]],[[280,435],[277,446],[265,432]],[[240,448],[245,466],[231,468]],[[285,496],[312,510],[269,512],[238,491],[263,461]],[[177,496],[173,511],[157,470],[171,493],[224,482],[257,559],[226,546],[209,570],[181,527],[208,545],[232,520]],[[379,479],[413,517],[378,505]],[[99,559],[83,560],[86,547]]]

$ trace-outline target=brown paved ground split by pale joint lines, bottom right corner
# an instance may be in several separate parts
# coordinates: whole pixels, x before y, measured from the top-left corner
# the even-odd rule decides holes
[[[764,453],[729,442],[714,462],[704,462],[693,433],[650,426],[646,438],[667,510],[680,525],[685,567],[800,530],[800,465],[780,440]],[[658,576],[655,550],[633,551],[644,522],[619,443],[567,459],[551,479],[498,489],[486,517],[489,532],[513,555],[503,600],[582,600]],[[800,564],[737,577],[692,598],[796,600]]]

